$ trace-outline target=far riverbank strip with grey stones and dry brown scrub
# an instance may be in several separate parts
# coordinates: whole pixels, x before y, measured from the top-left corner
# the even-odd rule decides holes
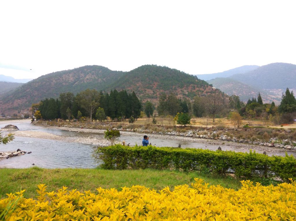
[[[154,125],[154,130],[146,128],[146,125],[134,127],[133,124],[123,125],[122,123],[102,122],[56,122],[56,121],[34,121],[34,125],[50,126],[51,128],[103,133],[106,129],[119,130],[121,134],[142,137],[143,134],[149,137],[160,139],[174,139],[179,141],[199,142],[212,145],[226,145],[231,147],[242,147],[246,151],[261,150],[260,146],[268,148],[271,152],[277,150],[296,151],[296,131],[280,130],[275,128],[194,128],[194,127],[166,127]],[[117,126],[117,127],[116,127]],[[134,128],[133,128],[134,127]],[[104,128],[104,129],[101,129]],[[133,128],[133,129],[132,129]],[[256,136],[255,136],[256,135]],[[263,139],[258,139],[262,137]],[[285,139],[288,138],[288,139]]]

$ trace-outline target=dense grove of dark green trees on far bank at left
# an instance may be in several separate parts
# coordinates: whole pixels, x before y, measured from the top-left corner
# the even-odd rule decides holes
[[[76,96],[71,93],[61,93],[59,98],[45,98],[38,104],[32,105],[32,112],[36,118],[53,120],[80,119],[89,116],[91,120],[112,121],[123,119],[137,119],[141,114],[141,103],[135,92],[126,90],[111,90],[109,93],[87,89]]]

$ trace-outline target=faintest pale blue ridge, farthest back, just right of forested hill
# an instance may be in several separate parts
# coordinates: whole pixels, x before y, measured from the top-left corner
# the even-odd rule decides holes
[[[246,73],[249,71],[253,71],[253,70],[257,69],[258,67],[260,67],[260,66],[244,65],[244,66],[241,66],[238,68],[230,69],[228,71],[223,71],[223,72],[213,73],[213,74],[197,74],[196,76],[199,79],[207,81],[207,80],[214,79],[216,77],[230,77],[231,75],[234,75],[234,74],[243,74],[243,73]]]

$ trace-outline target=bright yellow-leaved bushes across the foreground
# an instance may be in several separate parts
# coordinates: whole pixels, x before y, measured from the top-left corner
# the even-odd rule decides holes
[[[192,187],[156,191],[143,186],[98,188],[97,193],[63,187],[46,192],[38,185],[38,199],[23,191],[0,200],[3,220],[295,220],[296,182],[277,186],[241,181],[239,190],[208,186],[195,178]],[[17,199],[17,202],[16,202]],[[15,202],[14,205],[11,205]],[[2,220],[2,219],[1,219]]]

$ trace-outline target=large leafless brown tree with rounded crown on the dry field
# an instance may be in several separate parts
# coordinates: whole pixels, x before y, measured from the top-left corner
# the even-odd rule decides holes
[[[221,94],[213,94],[204,99],[205,111],[213,117],[215,122],[215,115],[223,110],[223,98]]]

